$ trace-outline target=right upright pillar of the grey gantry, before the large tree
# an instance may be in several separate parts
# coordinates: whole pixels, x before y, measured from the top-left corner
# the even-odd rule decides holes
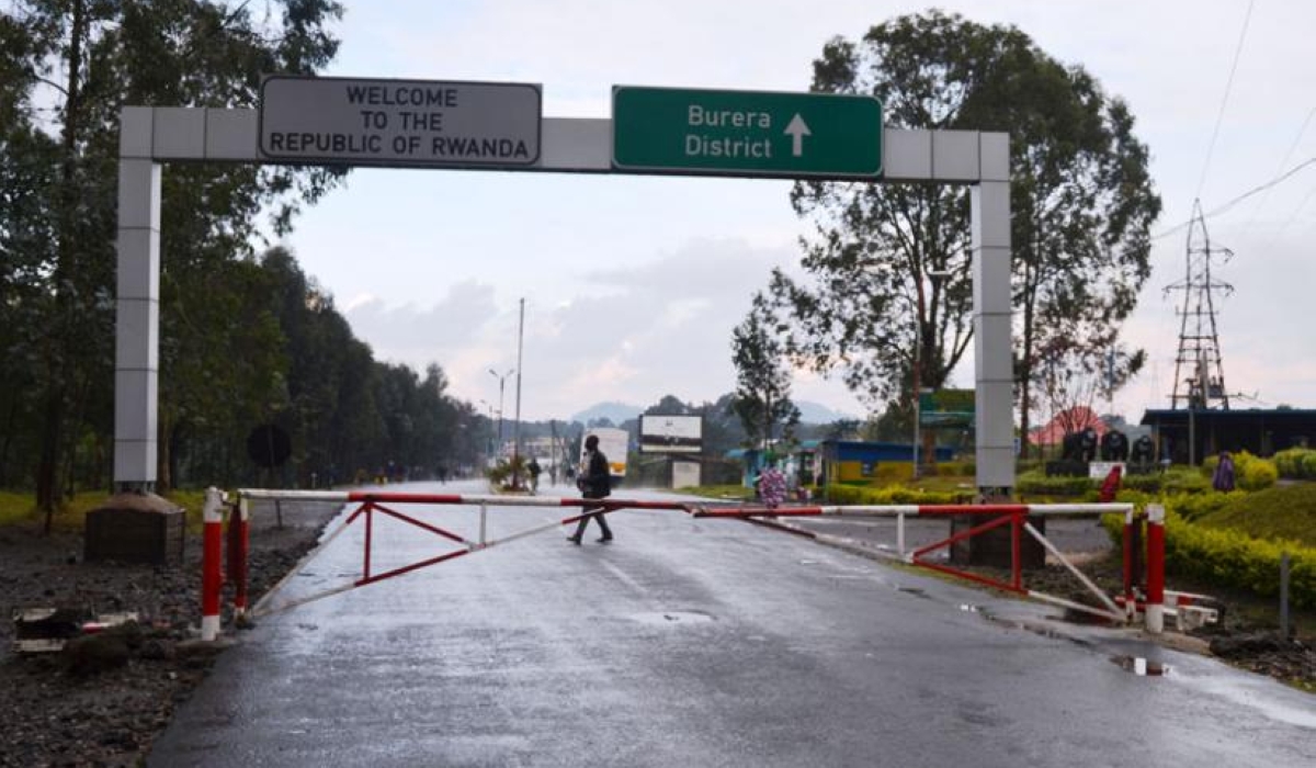
[[[1015,371],[1005,134],[982,134],[982,180],[971,195],[976,483],[979,489],[1013,489]]]

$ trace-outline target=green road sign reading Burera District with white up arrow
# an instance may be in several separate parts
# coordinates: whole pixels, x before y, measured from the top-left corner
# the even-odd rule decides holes
[[[876,179],[873,96],[612,88],[612,167],[657,174]]]

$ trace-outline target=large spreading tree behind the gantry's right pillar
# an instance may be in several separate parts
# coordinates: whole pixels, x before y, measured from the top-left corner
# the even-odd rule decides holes
[[[891,126],[1009,133],[1026,433],[1038,350],[1053,337],[1108,344],[1150,274],[1148,231],[1161,202],[1126,105],[1012,26],[936,11],[874,26],[858,42],[832,40],[813,63],[813,90],[873,94]],[[973,332],[966,192],[799,182],[791,202],[815,228],[804,241],[809,279],[779,270],[771,279],[794,319],[791,349],[820,370],[842,369],[871,403],[911,402],[916,361],[921,386],[942,386]]]

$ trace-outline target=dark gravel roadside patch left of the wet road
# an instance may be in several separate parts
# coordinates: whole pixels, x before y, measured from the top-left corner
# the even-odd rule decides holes
[[[315,547],[337,505],[272,503],[251,515],[253,601]],[[0,765],[142,764],[175,707],[205,678],[222,645],[197,640],[201,541],[190,535],[182,565],[84,562],[80,534],[0,530]],[[226,595],[228,599],[228,595]],[[18,609],[133,611],[124,624],[66,644],[62,652],[12,649]],[[230,617],[224,617],[232,631]]]

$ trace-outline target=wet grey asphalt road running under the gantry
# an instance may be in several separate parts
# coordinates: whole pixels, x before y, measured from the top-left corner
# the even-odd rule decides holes
[[[563,516],[490,512],[491,537]],[[474,510],[416,514],[475,536]],[[1316,698],[1134,631],[736,520],[609,520],[263,619],[149,765],[1316,764]],[[283,597],[358,577],[359,528]],[[451,548],[374,532],[376,573]]]

